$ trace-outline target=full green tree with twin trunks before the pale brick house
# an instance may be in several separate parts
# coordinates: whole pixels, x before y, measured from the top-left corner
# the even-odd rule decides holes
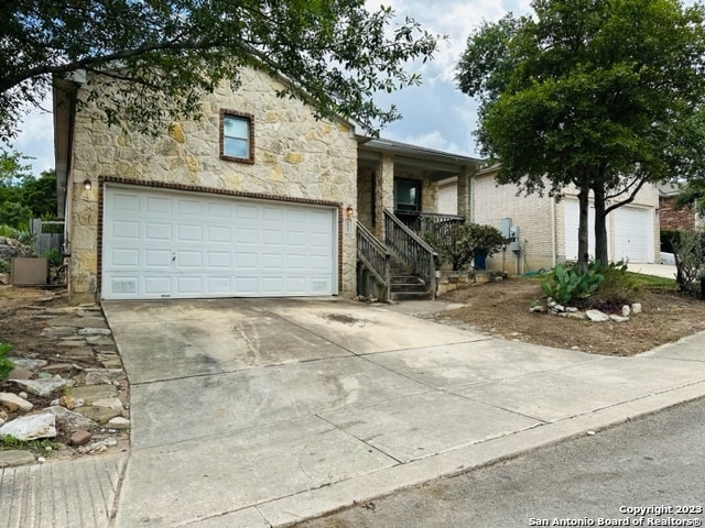
[[[677,0],[534,0],[468,37],[460,89],[479,98],[498,182],[579,202],[578,264],[607,264],[607,215],[649,182],[705,168],[705,11]]]

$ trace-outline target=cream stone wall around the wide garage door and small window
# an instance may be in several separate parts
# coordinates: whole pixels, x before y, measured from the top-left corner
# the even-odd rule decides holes
[[[299,100],[276,97],[275,90],[283,86],[264,74],[246,69],[241,80],[237,91],[224,84],[205,99],[202,121],[173,122],[156,138],[108,128],[87,113],[77,116],[68,193],[74,301],[95,300],[99,289],[99,177],[325,200],[343,210],[356,209],[357,143],[349,127],[343,121],[316,120],[312,109]],[[223,109],[253,117],[254,163],[220,158]],[[86,179],[93,182],[91,190],[83,188]],[[355,233],[341,235],[340,293],[351,296],[356,289]]]

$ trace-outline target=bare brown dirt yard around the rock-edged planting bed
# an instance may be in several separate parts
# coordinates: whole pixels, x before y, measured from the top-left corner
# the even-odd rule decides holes
[[[467,305],[438,318],[460,321],[505,339],[607,355],[633,355],[705,330],[705,300],[677,292],[641,290],[643,312],[628,322],[592,322],[531,314],[542,296],[536,279],[511,277],[456,289],[443,300]],[[449,322],[449,321],[446,321]]]

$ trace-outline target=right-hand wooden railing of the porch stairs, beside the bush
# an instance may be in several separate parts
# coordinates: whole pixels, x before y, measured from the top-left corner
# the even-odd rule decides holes
[[[437,253],[389,210],[384,210],[384,244],[421,277],[435,296]]]

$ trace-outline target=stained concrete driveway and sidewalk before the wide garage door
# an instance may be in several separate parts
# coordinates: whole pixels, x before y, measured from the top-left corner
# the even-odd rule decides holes
[[[345,300],[104,310],[131,384],[118,528],[282,526],[705,394],[703,339],[623,359]]]

